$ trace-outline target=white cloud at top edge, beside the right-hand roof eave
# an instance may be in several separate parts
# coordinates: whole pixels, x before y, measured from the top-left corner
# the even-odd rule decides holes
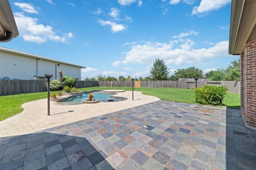
[[[230,3],[231,0],[201,0],[199,6],[195,6],[192,11],[192,15],[207,14],[210,11],[218,10]]]

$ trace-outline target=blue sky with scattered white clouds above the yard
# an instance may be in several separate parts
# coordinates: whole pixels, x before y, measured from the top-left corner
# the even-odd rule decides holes
[[[19,36],[1,47],[85,66],[81,78],[226,68],[231,0],[9,0]],[[65,73],[64,73],[65,74]]]

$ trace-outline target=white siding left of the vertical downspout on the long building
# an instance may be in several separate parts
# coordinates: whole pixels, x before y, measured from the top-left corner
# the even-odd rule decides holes
[[[0,79],[31,80],[36,75],[36,59],[1,52]]]

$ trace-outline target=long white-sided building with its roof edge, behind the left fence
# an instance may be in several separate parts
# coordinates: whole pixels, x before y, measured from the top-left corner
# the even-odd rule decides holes
[[[50,80],[54,80],[58,79],[61,70],[63,76],[78,80],[81,68],[85,67],[0,47],[0,79],[46,80],[44,74],[52,74]]]

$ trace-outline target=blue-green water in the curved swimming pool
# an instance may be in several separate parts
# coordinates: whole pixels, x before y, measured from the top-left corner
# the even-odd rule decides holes
[[[108,102],[110,96],[113,96],[115,93],[102,93],[102,92],[93,92],[94,99],[100,100],[100,102]],[[89,94],[84,94],[84,96],[73,96],[66,100],[66,102],[82,102],[82,100],[86,100]],[[114,102],[122,101],[123,99],[114,98]]]

